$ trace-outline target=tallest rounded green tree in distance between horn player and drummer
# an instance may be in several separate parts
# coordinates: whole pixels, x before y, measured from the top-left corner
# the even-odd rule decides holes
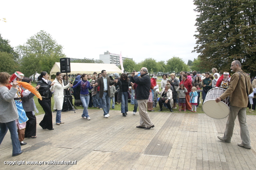
[[[187,64],[179,57],[173,56],[167,60],[166,72],[189,71]]]

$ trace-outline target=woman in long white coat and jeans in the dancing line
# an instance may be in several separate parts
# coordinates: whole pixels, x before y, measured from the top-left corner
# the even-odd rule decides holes
[[[50,90],[51,92],[54,91],[54,107],[53,109],[57,109],[56,113],[56,124],[60,125],[64,122],[61,122],[60,117],[61,117],[61,110],[62,110],[62,105],[63,105],[63,100],[64,100],[64,89],[72,87],[70,83],[68,83],[66,86],[64,86],[63,80],[61,79],[61,72],[56,72],[56,78],[52,82],[53,85],[51,86]]]

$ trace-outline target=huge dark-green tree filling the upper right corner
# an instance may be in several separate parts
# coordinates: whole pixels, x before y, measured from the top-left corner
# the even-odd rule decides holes
[[[220,71],[230,70],[232,60],[242,63],[244,71],[256,71],[256,1],[194,0],[201,65]]]

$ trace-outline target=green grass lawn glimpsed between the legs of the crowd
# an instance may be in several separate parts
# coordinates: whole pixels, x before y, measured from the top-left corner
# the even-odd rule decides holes
[[[160,78],[160,77],[158,77],[158,80],[157,80],[157,84],[158,84],[158,85],[161,84],[161,80],[159,80],[159,78]],[[162,78],[162,77],[161,77],[161,78]],[[33,84],[33,83],[32,83],[32,86],[35,87],[36,84]],[[159,88],[159,90],[161,91],[161,88]],[[53,94],[53,95],[54,95],[54,94]],[[159,95],[158,95],[158,97],[159,97]],[[36,104],[36,108],[37,108],[38,111],[39,111],[39,113],[36,114],[36,115],[44,114],[44,110],[42,109],[42,107],[41,107],[40,104],[38,103],[38,98],[36,98],[36,96],[34,96],[34,101],[35,101],[35,104]],[[72,100],[72,102],[73,102],[73,104],[74,104],[74,99]],[[201,102],[202,102],[202,99],[201,99]],[[53,110],[53,106],[54,106],[54,99],[53,99],[53,96],[52,96],[52,107],[51,107],[52,110]],[[114,109],[112,109],[111,106],[112,106],[112,101],[111,101],[111,105],[110,105],[110,110],[120,110],[120,114],[121,114],[121,104],[116,104]],[[76,108],[77,108],[77,109],[83,109],[82,106],[76,106]],[[98,108],[88,108],[88,109],[98,109]],[[155,110],[154,112],[158,112],[159,109],[160,109],[160,108],[159,108],[159,105],[157,104],[157,107],[154,108],[154,110]],[[99,110],[99,109],[98,109],[98,110]],[[132,112],[132,111],[134,110],[134,105],[128,103],[128,110],[129,110],[130,112]],[[138,114],[138,110],[139,110],[139,109],[137,109],[137,114]],[[177,104],[177,109],[173,109],[173,111],[174,111],[174,112],[179,112],[178,104]],[[168,109],[163,109],[162,112],[171,113]],[[182,113],[183,113],[183,112],[184,112],[184,111],[182,111]],[[197,113],[204,113],[204,112],[202,111],[202,104],[199,105],[199,107],[196,109],[196,112],[197,112]],[[103,113],[103,110],[102,110],[102,113]],[[191,112],[190,112],[190,111],[186,111],[186,113],[191,113]],[[249,112],[249,109],[247,108],[247,109],[246,109],[246,114],[247,114],[247,115],[256,115],[256,111],[254,110],[252,113],[250,113],[250,112]]]

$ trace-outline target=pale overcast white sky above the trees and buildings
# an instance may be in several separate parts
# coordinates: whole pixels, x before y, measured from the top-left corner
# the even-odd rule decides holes
[[[99,59],[107,50],[141,62],[197,58],[193,0],[5,0],[0,34],[16,47],[44,30],[69,58]]]

